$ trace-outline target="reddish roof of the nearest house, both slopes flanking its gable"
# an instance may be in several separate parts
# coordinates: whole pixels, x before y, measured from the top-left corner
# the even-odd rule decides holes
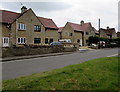
[[[0,10],[0,20],[1,23],[12,23],[15,19],[22,16],[24,13],[16,13],[12,11]],[[37,16],[38,17],[38,16]],[[38,17],[39,21],[44,25],[46,28],[53,28],[58,29],[56,24],[53,22],[52,19]]]

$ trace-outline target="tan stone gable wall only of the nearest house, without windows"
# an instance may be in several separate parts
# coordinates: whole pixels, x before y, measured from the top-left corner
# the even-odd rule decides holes
[[[23,23],[26,25],[26,30],[17,30],[16,26],[18,23]],[[34,32],[34,25],[41,26],[41,32]],[[19,17],[12,25],[12,35],[13,35],[13,44],[16,43],[16,37],[24,37],[26,39],[26,44],[34,44],[34,38],[43,39],[45,28],[39,22],[38,18],[34,15],[32,10],[28,10],[25,14]],[[43,43],[43,42],[42,42]]]

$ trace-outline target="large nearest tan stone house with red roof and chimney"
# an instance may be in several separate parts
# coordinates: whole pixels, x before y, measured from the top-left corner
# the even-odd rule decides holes
[[[36,16],[31,8],[23,6],[21,13],[0,10],[0,17],[3,47],[48,44],[59,39],[53,20]]]

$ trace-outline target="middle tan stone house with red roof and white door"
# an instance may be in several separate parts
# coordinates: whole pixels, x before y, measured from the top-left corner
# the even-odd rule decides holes
[[[87,46],[89,44],[88,39],[90,36],[95,36],[95,31],[91,23],[80,24],[67,22],[66,25],[59,30],[61,39],[69,39],[71,43],[78,43],[80,46]]]

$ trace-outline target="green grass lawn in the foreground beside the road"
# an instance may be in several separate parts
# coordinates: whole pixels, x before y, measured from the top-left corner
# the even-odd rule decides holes
[[[4,80],[3,90],[120,90],[118,65],[118,57],[94,59],[52,71]]]

